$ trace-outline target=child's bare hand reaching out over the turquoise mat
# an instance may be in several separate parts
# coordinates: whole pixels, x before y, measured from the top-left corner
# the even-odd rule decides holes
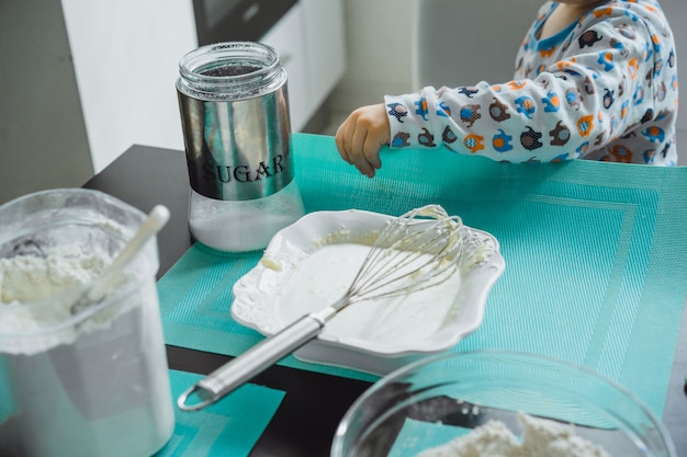
[[[336,133],[339,155],[368,178],[382,167],[380,148],[388,145],[390,126],[383,103],[353,111]]]

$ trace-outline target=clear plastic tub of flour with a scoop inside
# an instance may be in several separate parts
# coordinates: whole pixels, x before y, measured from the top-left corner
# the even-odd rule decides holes
[[[104,298],[75,307],[144,218],[88,190],[0,206],[3,457],[144,457],[171,436],[156,240]]]

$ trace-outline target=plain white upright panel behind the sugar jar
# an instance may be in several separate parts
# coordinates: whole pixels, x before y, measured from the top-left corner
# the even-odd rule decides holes
[[[183,149],[174,84],[198,47],[191,0],[61,3],[95,173],[133,144]]]

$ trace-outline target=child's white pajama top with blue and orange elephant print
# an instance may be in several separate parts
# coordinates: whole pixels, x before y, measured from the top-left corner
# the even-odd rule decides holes
[[[540,10],[513,81],[385,96],[391,147],[443,146],[505,162],[674,165],[675,44],[655,0],[604,2],[538,39],[554,8]]]

